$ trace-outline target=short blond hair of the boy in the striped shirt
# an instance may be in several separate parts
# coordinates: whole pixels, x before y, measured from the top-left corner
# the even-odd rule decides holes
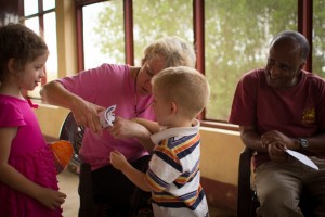
[[[158,90],[166,101],[173,101],[190,118],[195,118],[207,105],[210,88],[207,78],[195,68],[169,67],[152,79],[153,90]]]

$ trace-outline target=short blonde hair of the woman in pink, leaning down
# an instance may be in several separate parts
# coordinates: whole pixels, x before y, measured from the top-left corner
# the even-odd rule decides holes
[[[196,55],[194,47],[178,36],[167,36],[147,46],[144,50],[142,65],[156,56],[165,58],[165,67],[195,67]]]

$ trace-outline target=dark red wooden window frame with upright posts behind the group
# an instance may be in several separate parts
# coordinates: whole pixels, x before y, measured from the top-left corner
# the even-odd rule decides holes
[[[78,72],[83,69],[83,37],[82,37],[82,7],[103,2],[105,0],[76,0],[77,11],[77,44],[78,44]],[[126,64],[134,64],[134,48],[133,48],[133,13],[132,0],[123,0],[125,14],[125,43],[126,43]],[[313,4],[309,0],[297,0],[298,7],[298,31],[307,37],[312,49],[312,14]],[[196,69],[205,75],[205,2],[204,0],[193,0],[193,31],[194,44],[196,44],[197,63]],[[312,50],[309,53],[304,69],[312,72]],[[229,124],[226,120],[208,119],[206,118],[206,111],[203,111],[198,116],[202,120],[202,126],[220,128],[226,130],[238,131],[236,125]]]

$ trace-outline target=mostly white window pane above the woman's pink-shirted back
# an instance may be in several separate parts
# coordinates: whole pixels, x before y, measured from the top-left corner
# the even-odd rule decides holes
[[[123,1],[112,0],[82,8],[84,68],[125,63]]]

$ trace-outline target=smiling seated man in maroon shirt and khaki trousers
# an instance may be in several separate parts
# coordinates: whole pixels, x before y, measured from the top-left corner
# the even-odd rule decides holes
[[[315,216],[325,216],[325,81],[302,69],[309,50],[301,34],[283,31],[271,42],[266,66],[237,85],[230,123],[239,125],[244,144],[257,151],[259,216],[303,216],[302,187],[320,202]],[[320,170],[286,150],[308,155]]]

